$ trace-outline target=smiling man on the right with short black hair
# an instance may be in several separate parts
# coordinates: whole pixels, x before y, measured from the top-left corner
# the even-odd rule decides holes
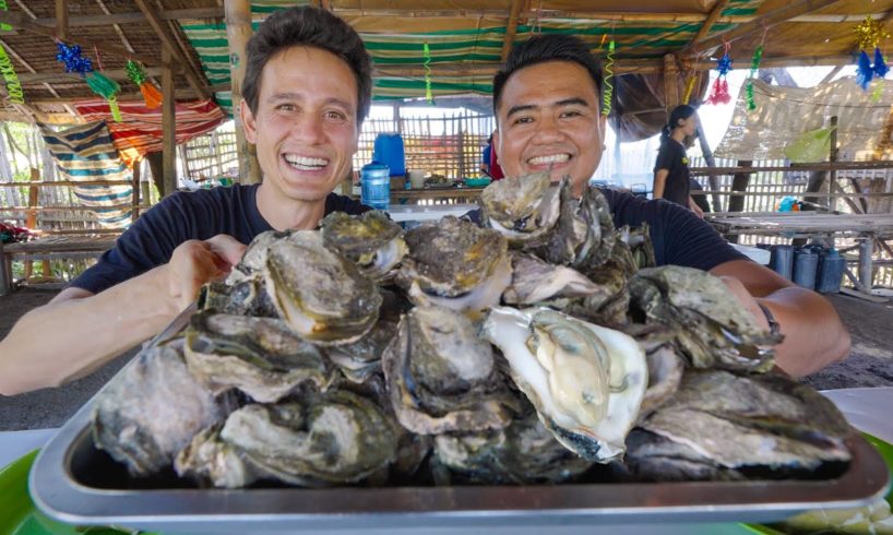
[[[580,39],[547,34],[515,46],[493,79],[493,146],[508,176],[548,170],[570,176],[583,194],[604,151],[602,67]],[[831,304],[731,248],[709,224],[677,204],[603,190],[615,225],[648,223],[658,264],[698,268],[723,277],[729,292],[785,336],[776,362],[803,376],[849,353],[849,333]]]

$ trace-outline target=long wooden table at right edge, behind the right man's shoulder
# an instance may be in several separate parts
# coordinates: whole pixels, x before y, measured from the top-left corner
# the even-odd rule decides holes
[[[859,283],[870,290],[874,239],[893,238],[893,214],[830,214],[814,212],[752,212],[704,214],[723,234],[755,234],[788,238],[855,237],[859,243]],[[869,292],[870,293],[870,292]]]

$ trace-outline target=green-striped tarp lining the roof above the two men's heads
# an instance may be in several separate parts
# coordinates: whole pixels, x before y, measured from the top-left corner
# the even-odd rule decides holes
[[[750,15],[763,0],[730,0],[723,15]],[[306,4],[299,0],[253,0],[251,12],[254,27],[271,12],[287,5]],[[543,5],[543,2],[540,2]],[[425,9],[419,7],[419,9]],[[548,5],[544,5],[548,9]],[[358,26],[366,48],[372,56],[376,68],[419,67],[424,62],[422,47],[428,43],[431,64],[492,64],[499,62],[502,43],[507,28],[504,20],[467,17],[457,22],[442,22],[451,29],[437,32],[409,32],[393,28],[418,27],[418,21],[436,24],[432,21],[398,19],[374,21],[373,17],[348,19]],[[179,22],[190,44],[195,48],[202,68],[212,84],[229,83],[229,51],[227,48],[226,26],[223,22],[207,24],[202,20],[183,20]],[[379,31],[378,28],[389,28]],[[662,58],[665,54],[676,51],[688,45],[701,27],[701,23],[678,22],[618,22],[551,20],[529,21],[520,25],[515,41],[526,40],[531,35],[541,33],[569,33],[578,35],[591,44],[595,52],[604,52],[605,39],[614,37],[617,43],[617,61],[623,59]],[[734,24],[714,24],[710,35],[725,32]],[[371,31],[371,29],[374,31]],[[434,96],[477,93],[489,95],[492,92],[491,76],[450,75],[450,71],[434,71],[431,79],[431,91]],[[372,96],[376,100],[424,97],[425,79],[421,76],[389,76],[379,71],[374,74]],[[215,95],[217,104],[231,115],[231,96],[227,93]]]

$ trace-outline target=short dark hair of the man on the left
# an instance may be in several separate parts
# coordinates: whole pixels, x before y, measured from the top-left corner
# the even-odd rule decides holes
[[[372,103],[372,60],[349,24],[312,5],[274,12],[248,40],[242,97],[251,112],[258,112],[261,72],[270,58],[281,50],[301,46],[332,52],[347,63],[357,81],[357,122],[361,123]]]

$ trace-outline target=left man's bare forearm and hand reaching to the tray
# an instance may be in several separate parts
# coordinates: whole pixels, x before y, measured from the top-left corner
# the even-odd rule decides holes
[[[0,342],[0,395],[83,377],[157,334],[243,251],[229,236],[190,240],[167,264],[99,294],[67,288],[22,317]]]

